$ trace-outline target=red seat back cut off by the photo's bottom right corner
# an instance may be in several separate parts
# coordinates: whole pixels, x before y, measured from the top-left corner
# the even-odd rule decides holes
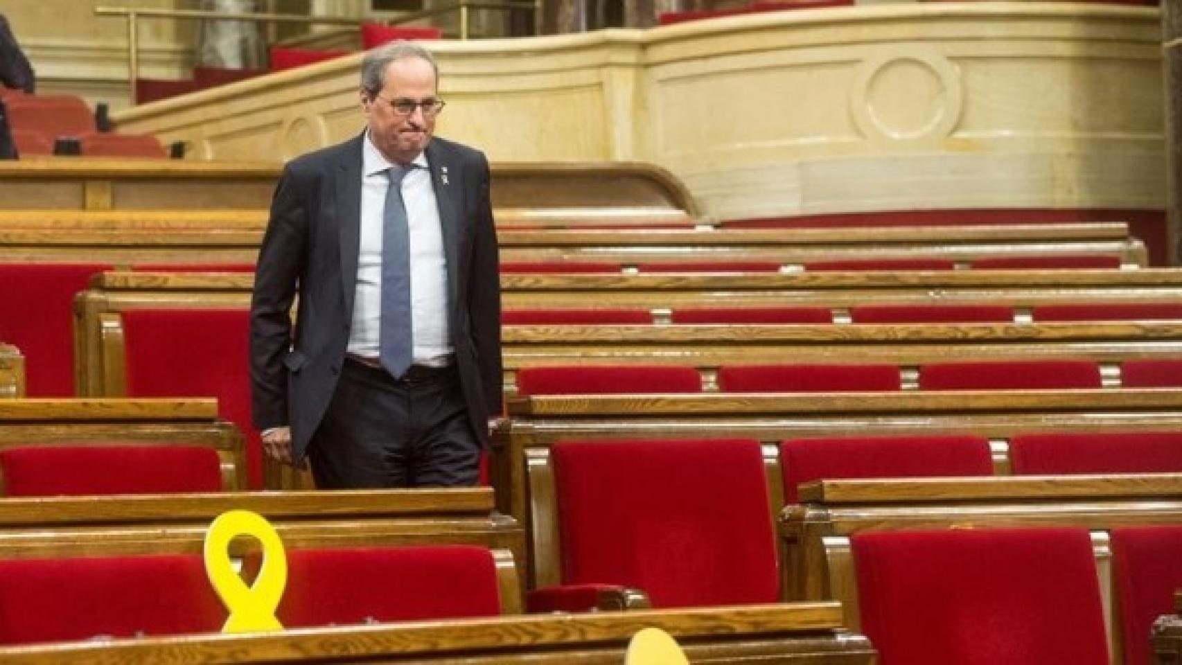
[[[1149,627],[1174,613],[1182,587],[1182,527],[1124,527],[1110,532],[1125,665],[1154,663]]]

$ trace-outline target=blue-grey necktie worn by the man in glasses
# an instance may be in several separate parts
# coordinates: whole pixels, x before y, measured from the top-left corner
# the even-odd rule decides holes
[[[378,326],[378,358],[395,378],[407,373],[414,359],[410,322],[410,229],[402,202],[402,178],[413,169],[390,167],[390,188],[382,213],[382,314]]]

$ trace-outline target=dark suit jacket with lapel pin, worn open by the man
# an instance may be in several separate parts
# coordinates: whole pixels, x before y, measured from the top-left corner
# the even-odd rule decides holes
[[[361,248],[362,141],[290,162],[275,189],[251,302],[254,425],[291,425],[299,459],[337,387]],[[447,260],[448,324],[476,436],[501,410],[500,283],[483,154],[442,138],[427,146]],[[299,285],[292,334],[291,305]]]

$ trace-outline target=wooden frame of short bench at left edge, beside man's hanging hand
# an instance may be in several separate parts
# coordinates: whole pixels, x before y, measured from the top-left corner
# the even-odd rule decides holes
[[[0,448],[161,443],[215,449],[222,487],[246,487],[242,432],[213,399],[0,399]]]

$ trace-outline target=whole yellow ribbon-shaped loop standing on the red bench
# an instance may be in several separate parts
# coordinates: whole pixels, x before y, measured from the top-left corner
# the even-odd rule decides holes
[[[229,543],[238,536],[253,536],[262,545],[259,576],[249,587],[229,560]],[[223,633],[281,631],[275,608],[287,585],[287,555],[275,528],[262,515],[249,510],[229,510],[217,516],[206,533],[206,574],[229,618]]]

